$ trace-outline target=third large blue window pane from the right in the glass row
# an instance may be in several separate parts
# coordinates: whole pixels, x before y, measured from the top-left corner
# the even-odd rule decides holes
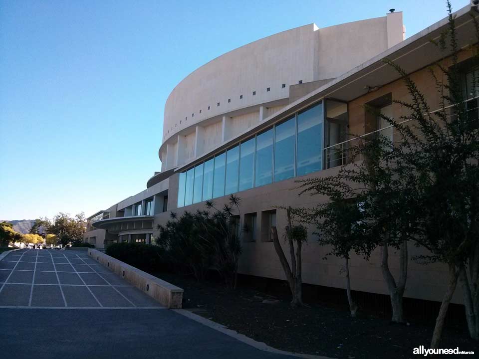
[[[254,185],[271,183],[273,169],[273,129],[256,136]]]

